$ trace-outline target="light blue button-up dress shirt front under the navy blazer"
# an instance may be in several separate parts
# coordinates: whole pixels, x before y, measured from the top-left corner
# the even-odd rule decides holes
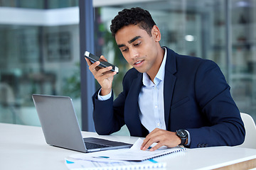
[[[166,65],[166,48],[154,82],[143,73],[142,89],[139,93],[139,118],[142,125],[152,132],[155,128],[166,130],[164,121],[164,71]]]

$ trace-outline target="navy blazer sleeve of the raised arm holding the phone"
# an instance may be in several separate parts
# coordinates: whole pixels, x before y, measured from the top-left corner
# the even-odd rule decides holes
[[[124,106],[133,79],[137,78],[138,72],[129,69],[122,81],[123,91],[114,99],[114,93],[106,101],[97,99],[98,91],[92,96],[95,130],[99,135],[110,135],[122,128],[124,123]]]

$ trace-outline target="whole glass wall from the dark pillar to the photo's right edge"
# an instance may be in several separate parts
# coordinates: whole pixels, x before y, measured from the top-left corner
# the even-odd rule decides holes
[[[231,94],[240,111],[249,113],[256,120],[255,0],[97,4],[95,50],[97,55],[105,55],[120,69],[120,74],[114,77],[115,96],[122,91],[122,78],[130,66],[111,36],[110,24],[118,11],[136,6],[150,11],[161,30],[162,46],[170,47],[181,55],[216,62],[231,86]]]

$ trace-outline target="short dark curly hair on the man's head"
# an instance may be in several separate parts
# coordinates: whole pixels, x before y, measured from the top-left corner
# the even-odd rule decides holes
[[[112,19],[112,24],[110,26],[112,35],[115,36],[119,29],[131,24],[138,25],[143,30],[146,30],[146,33],[150,36],[153,26],[156,25],[149,11],[139,7],[130,9],[124,8],[122,11],[119,11],[114,19]]]

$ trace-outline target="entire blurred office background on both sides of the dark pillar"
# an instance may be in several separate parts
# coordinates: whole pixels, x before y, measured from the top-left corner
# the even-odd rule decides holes
[[[92,113],[81,109],[79,4],[0,0],[1,123],[39,126],[31,95],[49,94],[73,98],[80,125],[87,124],[82,115]],[[130,67],[115,45],[110,22],[123,8],[140,6],[159,26],[161,45],[215,61],[240,112],[256,120],[256,0],[94,0],[92,5],[94,52],[120,69],[115,96]]]

